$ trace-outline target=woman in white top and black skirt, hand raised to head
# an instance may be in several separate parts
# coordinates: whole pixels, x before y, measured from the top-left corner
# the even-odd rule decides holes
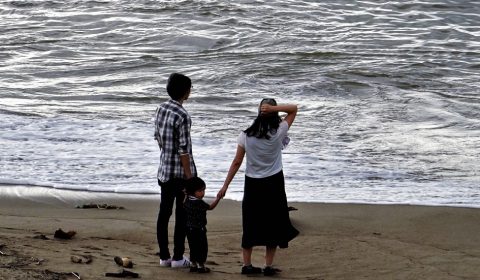
[[[279,112],[285,112],[287,116],[282,119]],[[276,248],[287,248],[288,242],[298,235],[290,222],[282,171],[282,148],[296,114],[296,105],[277,105],[274,99],[263,99],[257,118],[238,137],[235,158],[218,192],[219,197],[225,196],[246,154],[242,274],[262,273],[262,269],[252,266],[251,256],[254,246],[265,246],[263,273],[274,275],[278,271],[272,267]]]

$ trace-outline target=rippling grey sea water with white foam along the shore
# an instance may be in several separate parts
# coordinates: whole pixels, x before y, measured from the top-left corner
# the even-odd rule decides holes
[[[158,194],[181,72],[207,196],[273,97],[290,201],[480,207],[478,1],[0,1],[0,42],[3,189]]]

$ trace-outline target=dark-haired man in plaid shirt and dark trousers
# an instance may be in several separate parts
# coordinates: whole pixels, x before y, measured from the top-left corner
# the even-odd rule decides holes
[[[155,113],[155,139],[160,148],[157,179],[161,187],[160,211],[157,220],[157,240],[160,247],[160,266],[189,267],[185,252],[186,214],[183,208],[185,180],[197,176],[193,161],[190,127],[192,120],[182,104],[188,99],[192,82],[189,77],[173,73],[168,78],[170,100],[161,104]],[[176,201],[175,201],[176,200]],[[168,223],[175,206],[173,258],[168,248]]]

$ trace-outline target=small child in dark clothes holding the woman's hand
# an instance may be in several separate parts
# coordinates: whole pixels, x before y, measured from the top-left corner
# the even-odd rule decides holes
[[[187,180],[184,208],[187,214],[187,239],[190,247],[190,272],[210,272],[205,267],[207,260],[207,210],[213,210],[220,198],[217,197],[212,204],[203,201],[205,196],[205,182],[199,177]]]

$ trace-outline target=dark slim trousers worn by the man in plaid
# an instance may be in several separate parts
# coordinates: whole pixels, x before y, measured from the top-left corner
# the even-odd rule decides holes
[[[186,214],[183,208],[185,193],[183,192],[185,180],[172,179],[165,183],[158,181],[162,189],[160,198],[160,211],[157,220],[157,241],[160,247],[160,259],[170,258],[168,248],[168,222],[173,212],[175,202],[175,230],[173,234],[173,260],[181,260],[185,252],[185,227]],[[176,201],[175,201],[176,200]]]

